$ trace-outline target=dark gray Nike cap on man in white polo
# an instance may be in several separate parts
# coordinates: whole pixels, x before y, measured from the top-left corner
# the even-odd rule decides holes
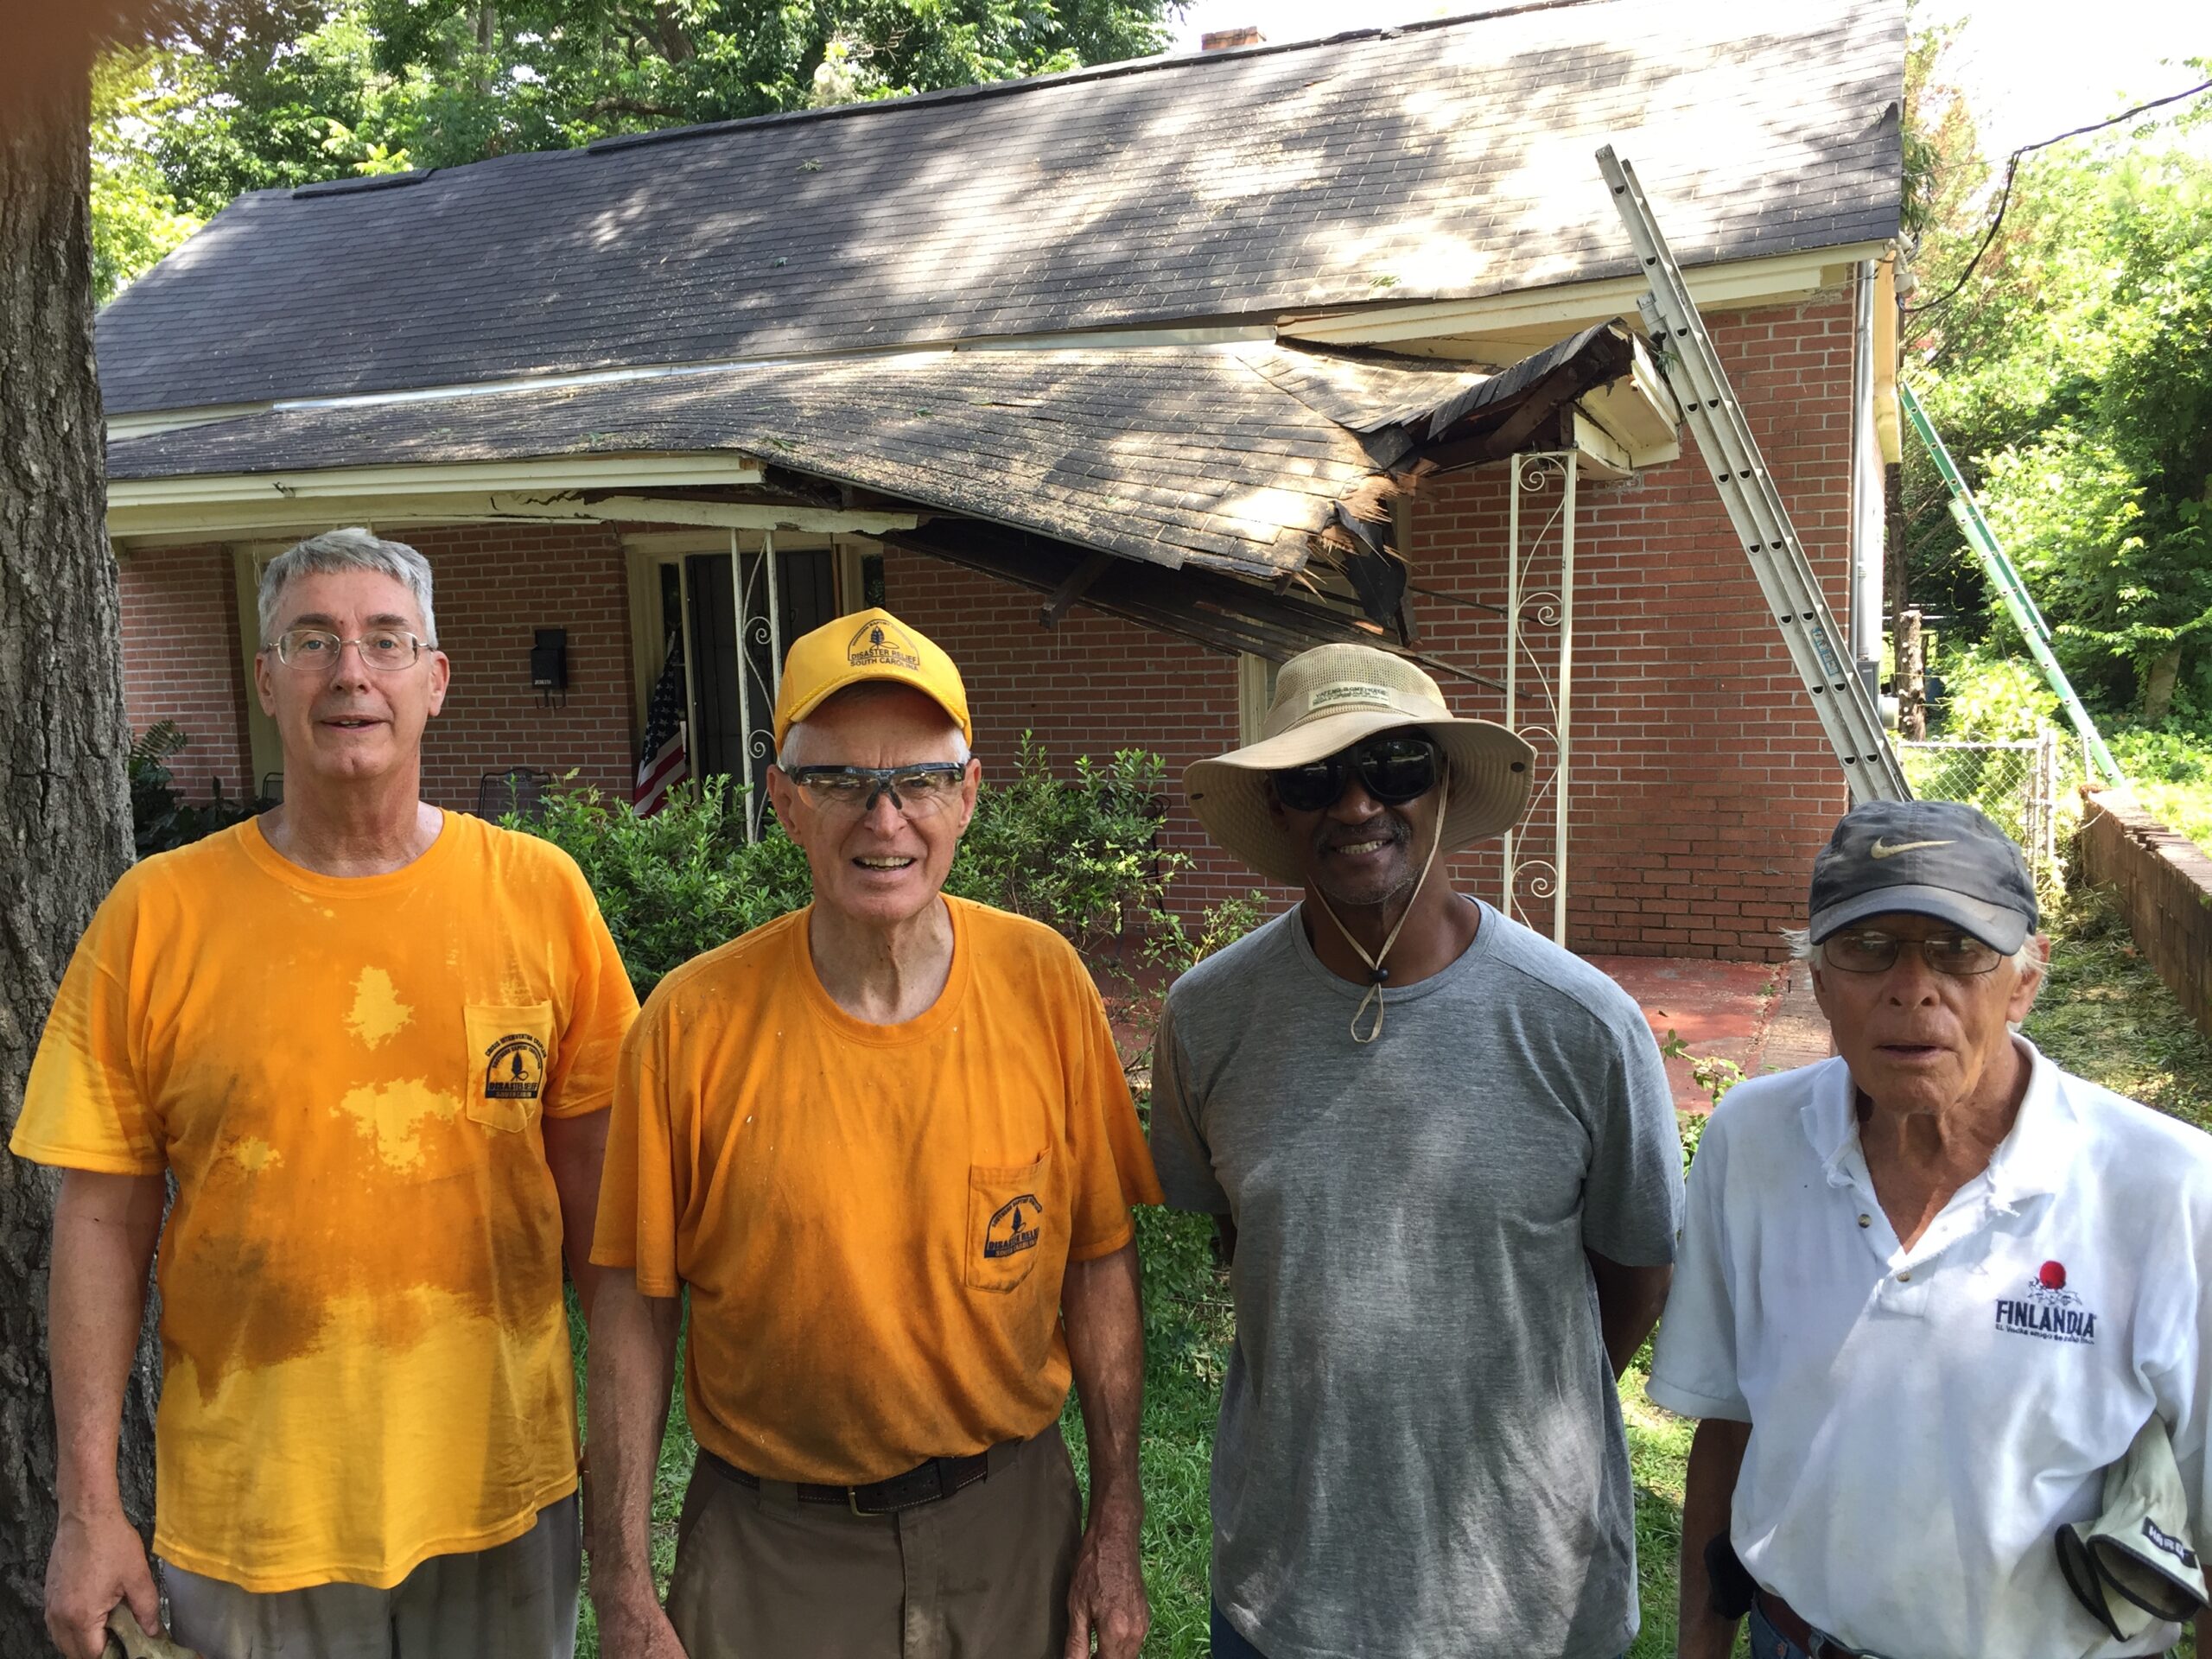
[[[1958,801],[1851,807],[1812,860],[1812,940],[1869,916],[1933,916],[2011,956],[2039,916],[2028,860]]]

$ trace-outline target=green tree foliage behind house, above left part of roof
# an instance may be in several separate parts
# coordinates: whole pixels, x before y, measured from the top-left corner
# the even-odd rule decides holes
[[[195,13],[104,139],[170,210],[1141,58],[1181,0],[265,0]],[[137,246],[150,250],[155,239]]]

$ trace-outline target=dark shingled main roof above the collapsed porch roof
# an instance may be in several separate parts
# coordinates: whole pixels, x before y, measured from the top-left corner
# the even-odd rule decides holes
[[[241,197],[115,414],[1464,299],[1898,226],[1902,0],[1590,0]]]

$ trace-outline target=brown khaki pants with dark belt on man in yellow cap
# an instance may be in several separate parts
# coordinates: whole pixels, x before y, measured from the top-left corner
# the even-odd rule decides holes
[[[754,1491],[701,1458],[668,1619],[690,1659],[1060,1659],[1079,1542],[1060,1425],[896,1515]]]

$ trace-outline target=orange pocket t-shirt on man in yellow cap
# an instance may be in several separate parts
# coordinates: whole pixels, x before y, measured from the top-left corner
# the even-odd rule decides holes
[[[854,1020],[807,916],[670,973],[622,1051],[591,1259],[690,1285],[699,1444],[865,1484],[1042,1431],[1068,1396],[1060,1281],[1159,1181],[1082,960],[958,898],[936,1004]]]

